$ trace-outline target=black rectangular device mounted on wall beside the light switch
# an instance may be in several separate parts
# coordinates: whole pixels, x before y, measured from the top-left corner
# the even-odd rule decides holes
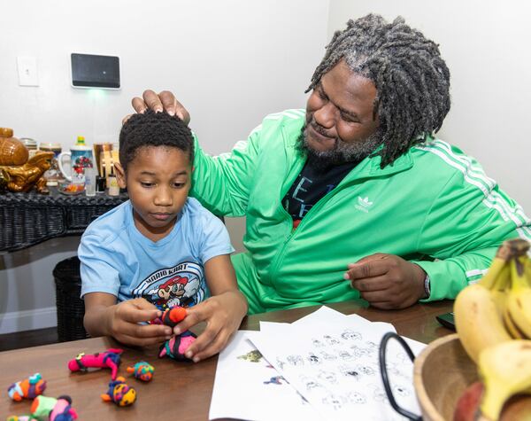
[[[72,86],[119,90],[119,58],[94,54],[71,54]]]

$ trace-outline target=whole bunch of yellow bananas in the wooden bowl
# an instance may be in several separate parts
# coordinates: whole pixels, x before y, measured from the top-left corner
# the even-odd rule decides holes
[[[531,394],[529,246],[522,239],[505,241],[485,276],[454,304],[458,337],[484,386],[481,419],[496,420],[513,395]]]

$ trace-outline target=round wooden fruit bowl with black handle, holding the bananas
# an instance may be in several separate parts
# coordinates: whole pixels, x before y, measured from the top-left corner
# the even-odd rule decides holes
[[[458,335],[435,339],[415,358],[413,384],[425,421],[453,419],[458,399],[478,379]]]

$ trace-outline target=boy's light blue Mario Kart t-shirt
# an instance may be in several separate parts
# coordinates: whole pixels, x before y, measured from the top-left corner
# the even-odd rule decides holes
[[[136,229],[127,200],[81,237],[81,297],[107,292],[119,301],[143,297],[161,309],[191,307],[210,294],[204,263],[232,252],[223,222],[196,199],[187,199],[172,232],[157,242]]]

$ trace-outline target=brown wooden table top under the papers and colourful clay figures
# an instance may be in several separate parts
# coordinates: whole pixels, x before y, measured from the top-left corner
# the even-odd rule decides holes
[[[381,311],[364,308],[357,302],[342,302],[329,305],[344,314],[357,313],[373,322],[394,324],[401,335],[428,343],[451,333],[435,320],[435,316],[451,311],[453,301],[417,304],[412,308],[396,311]],[[241,329],[256,331],[259,321],[294,322],[319,307],[297,308],[246,317]],[[95,370],[88,373],[70,373],[66,363],[80,352],[92,354],[110,347],[119,347],[109,338],[94,338],[65,342],[45,347],[31,347],[0,353],[0,418],[29,412],[31,401],[12,402],[6,389],[14,381],[27,375],[41,372],[47,380],[45,394],[58,397],[69,394],[73,408],[83,420],[206,420],[212,398],[212,386],[216,372],[217,357],[201,363],[177,363],[157,358],[157,347],[149,349],[127,348],[122,356],[119,373],[134,386],[138,400],[131,407],[118,408],[104,403],[100,394],[107,391],[110,370]],[[155,366],[155,375],[150,383],[142,383],[127,374],[128,365],[145,360]]]

